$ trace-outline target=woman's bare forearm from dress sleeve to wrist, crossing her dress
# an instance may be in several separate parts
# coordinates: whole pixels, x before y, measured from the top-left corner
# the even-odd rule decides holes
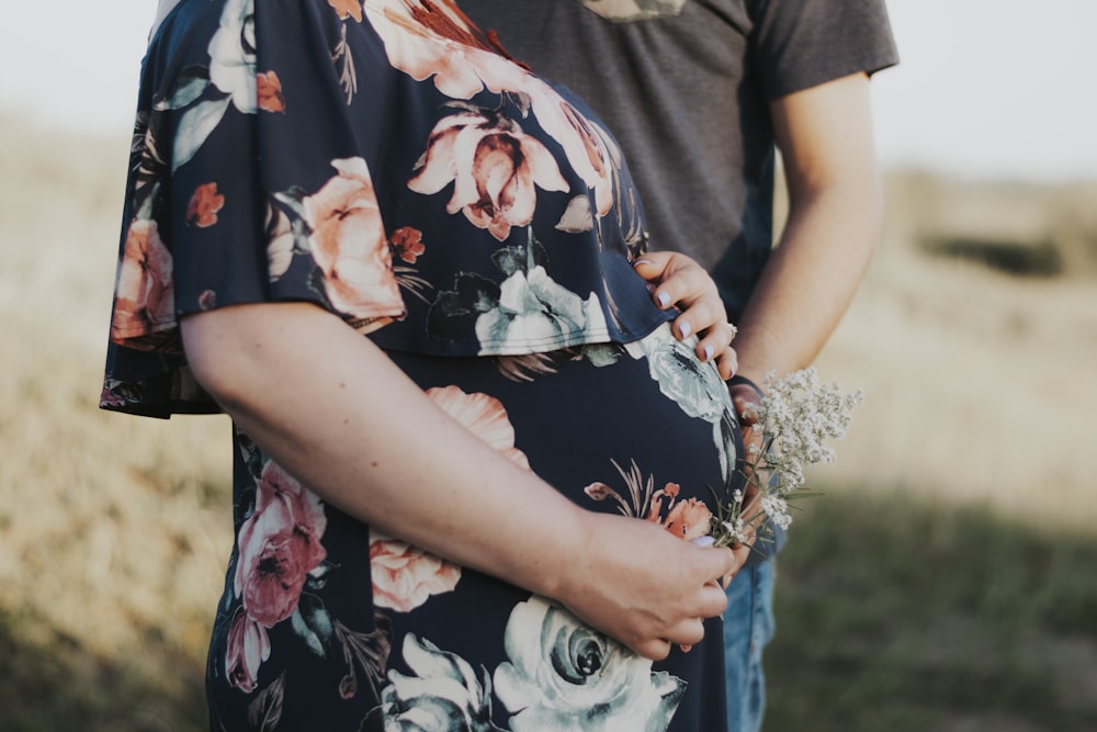
[[[344,513],[546,594],[553,573],[539,573],[538,558],[581,545],[585,511],[449,418],[369,339],[319,308],[224,308],[185,319],[183,336],[199,381],[237,425]]]

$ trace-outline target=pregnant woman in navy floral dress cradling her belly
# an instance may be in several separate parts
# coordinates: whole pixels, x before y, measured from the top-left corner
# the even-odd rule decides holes
[[[233,419],[211,729],[723,730],[732,333],[612,138],[448,0],[159,14],[102,404]]]

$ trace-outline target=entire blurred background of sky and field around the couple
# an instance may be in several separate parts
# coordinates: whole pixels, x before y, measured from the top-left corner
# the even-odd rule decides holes
[[[204,729],[224,418],[97,409],[152,0],[0,8],[0,729]],[[891,0],[863,388],[782,554],[766,730],[1097,730],[1093,0]]]

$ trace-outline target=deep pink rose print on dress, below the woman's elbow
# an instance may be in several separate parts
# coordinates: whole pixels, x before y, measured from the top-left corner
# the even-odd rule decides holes
[[[256,508],[240,527],[234,589],[248,616],[267,628],[297,609],[305,576],[327,552],[327,517],[316,494],[273,461],[259,477]]]

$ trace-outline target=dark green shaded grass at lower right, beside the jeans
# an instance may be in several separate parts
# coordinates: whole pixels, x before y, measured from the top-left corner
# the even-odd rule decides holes
[[[869,495],[793,527],[766,729],[1097,729],[1097,540]]]

